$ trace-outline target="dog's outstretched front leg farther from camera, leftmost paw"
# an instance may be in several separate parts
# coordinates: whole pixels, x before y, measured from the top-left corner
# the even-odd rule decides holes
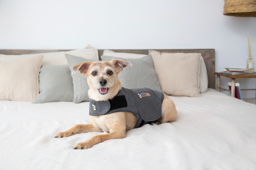
[[[85,125],[75,125],[74,127],[70,128],[65,132],[59,132],[55,138],[63,138],[74,135],[76,133],[81,132],[102,132],[102,130],[94,127],[92,124],[85,124]]]

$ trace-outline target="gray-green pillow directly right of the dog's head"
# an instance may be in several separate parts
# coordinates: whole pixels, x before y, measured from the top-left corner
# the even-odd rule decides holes
[[[153,60],[151,55],[143,58],[131,59],[121,57],[101,56],[103,61],[111,59],[122,59],[131,62],[132,67],[125,67],[118,74],[122,87],[125,88],[152,88],[161,91],[160,84],[154,71]]]

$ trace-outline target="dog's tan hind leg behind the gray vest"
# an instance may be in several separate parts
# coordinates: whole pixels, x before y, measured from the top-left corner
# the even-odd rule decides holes
[[[162,114],[161,117],[156,122],[157,125],[166,122],[173,122],[176,119],[177,110],[174,102],[168,96],[164,94],[164,99],[162,103]]]

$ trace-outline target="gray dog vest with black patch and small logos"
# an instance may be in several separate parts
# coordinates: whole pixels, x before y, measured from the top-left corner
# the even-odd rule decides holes
[[[130,112],[137,122],[134,128],[156,122],[162,112],[164,95],[150,88],[123,88],[113,99],[95,101],[90,99],[89,115],[100,116],[116,112]]]

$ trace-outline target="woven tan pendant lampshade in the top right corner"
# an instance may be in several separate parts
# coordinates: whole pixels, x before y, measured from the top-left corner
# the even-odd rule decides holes
[[[225,0],[224,15],[256,17],[256,0]]]

